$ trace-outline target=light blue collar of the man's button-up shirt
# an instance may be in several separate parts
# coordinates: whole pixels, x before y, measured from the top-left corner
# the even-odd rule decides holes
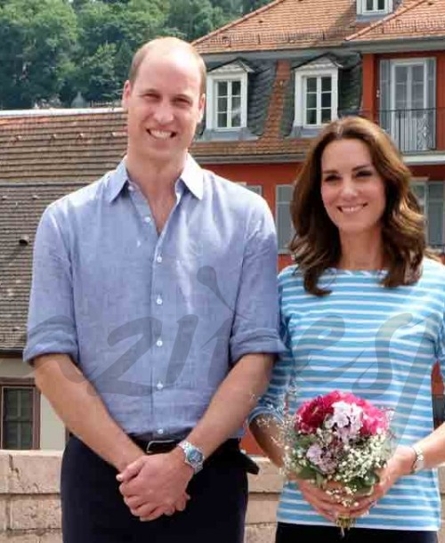
[[[198,165],[196,160],[187,155],[184,169],[180,179],[190,192],[198,199],[202,199],[204,195],[204,172]],[[109,203],[117,199],[121,190],[125,187],[125,183],[128,182],[128,174],[125,167],[125,158],[123,158],[114,172],[109,174],[108,180],[108,198]]]

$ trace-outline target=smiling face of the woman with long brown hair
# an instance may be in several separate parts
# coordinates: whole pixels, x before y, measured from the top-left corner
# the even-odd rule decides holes
[[[384,180],[360,140],[330,142],[321,156],[321,199],[340,236],[380,236]]]

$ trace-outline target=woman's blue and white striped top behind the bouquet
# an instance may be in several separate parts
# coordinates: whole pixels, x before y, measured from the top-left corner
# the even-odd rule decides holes
[[[332,390],[352,392],[394,410],[392,429],[400,444],[433,431],[431,370],[445,360],[445,266],[425,259],[415,285],[384,288],[382,271],[330,269],[317,297],[303,288],[295,266],[279,275],[281,331],[287,353],[277,361],[268,391],[251,415],[279,410],[286,391],[290,409]],[[358,519],[360,528],[437,531],[441,502],[436,470],[402,477]],[[282,491],[281,523],[329,525],[292,482]]]

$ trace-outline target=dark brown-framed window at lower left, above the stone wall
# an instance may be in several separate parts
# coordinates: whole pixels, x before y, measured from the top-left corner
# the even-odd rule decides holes
[[[0,448],[37,449],[40,398],[32,380],[2,379],[0,396]]]

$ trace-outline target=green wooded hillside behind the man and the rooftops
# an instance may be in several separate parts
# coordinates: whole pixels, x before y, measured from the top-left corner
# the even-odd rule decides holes
[[[0,0],[0,108],[119,97],[134,51],[193,40],[264,0]]]

